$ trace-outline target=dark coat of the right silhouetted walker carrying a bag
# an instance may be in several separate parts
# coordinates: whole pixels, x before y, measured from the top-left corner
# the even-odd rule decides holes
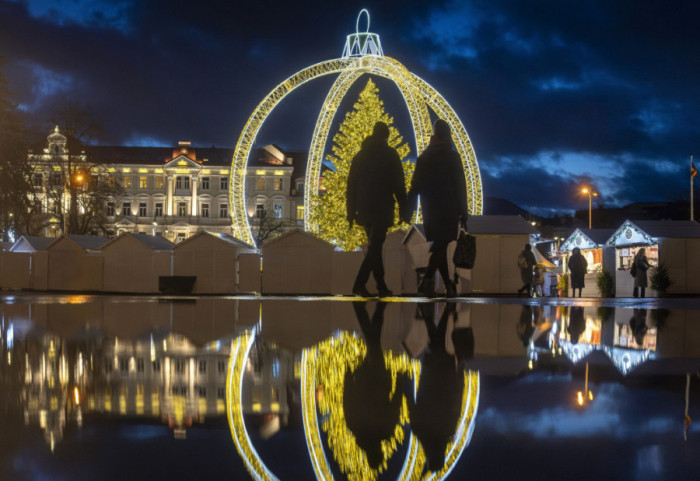
[[[414,206],[420,195],[423,227],[428,241],[457,238],[460,216],[467,216],[467,188],[462,160],[450,142],[433,137],[416,159],[407,204]]]

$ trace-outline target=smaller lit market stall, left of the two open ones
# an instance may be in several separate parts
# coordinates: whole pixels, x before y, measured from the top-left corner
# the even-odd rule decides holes
[[[581,292],[583,297],[598,297],[600,293],[596,288],[596,276],[603,270],[604,266],[607,270],[612,271],[614,250],[606,248],[605,242],[613,233],[613,229],[578,228],[566,238],[559,248],[561,265],[565,274],[569,273],[568,262],[574,248],[581,249],[581,255],[588,262],[588,273],[585,278],[586,287]]]

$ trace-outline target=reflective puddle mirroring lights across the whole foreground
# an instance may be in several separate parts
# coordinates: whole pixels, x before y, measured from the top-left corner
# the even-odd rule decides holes
[[[0,297],[0,479],[694,479],[698,312]]]

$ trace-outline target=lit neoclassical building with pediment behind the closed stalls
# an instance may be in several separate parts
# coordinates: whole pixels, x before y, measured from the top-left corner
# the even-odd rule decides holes
[[[233,149],[86,146],[69,152],[58,127],[41,153],[30,152],[38,202],[47,212],[56,171],[68,162],[85,165],[92,177],[119,182],[123,193],[105,200],[108,235],[141,232],[178,242],[200,230],[232,234],[229,182]],[[303,227],[306,153],[284,152],[275,145],[256,149],[248,162],[246,201],[251,225],[256,218],[276,223],[279,232]],[[67,201],[65,201],[67,203]],[[264,215],[263,215],[264,214]],[[61,234],[60,219],[47,223],[43,234]]]

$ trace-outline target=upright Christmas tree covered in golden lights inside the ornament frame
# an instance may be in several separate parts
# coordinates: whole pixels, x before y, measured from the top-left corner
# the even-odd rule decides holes
[[[380,120],[389,126],[389,145],[397,150],[402,161],[405,159],[410,148],[408,144],[402,143],[403,138],[392,125],[394,119],[384,112],[384,102],[379,99],[379,89],[370,79],[360,92],[353,110],[345,114],[345,120],[340,124],[338,133],[333,137],[333,153],[329,154],[326,159],[333,163],[334,170],[324,174],[321,181],[322,193],[315,199],[311,210],[311,223],[319,226],[317,235],[345,251],[354,250],[367,242],[362,227],[355,225],[352,229],[348,228],[345,212],[345,189],[353,157],[359,152],[362,141],[372,133],[374,124]],[[402,162],[402,166],[408,189],[414,164],[405,161]],[[406,225],[399,224],[397,206],[394,226],[389,230],[401,227],[406,227]]]

